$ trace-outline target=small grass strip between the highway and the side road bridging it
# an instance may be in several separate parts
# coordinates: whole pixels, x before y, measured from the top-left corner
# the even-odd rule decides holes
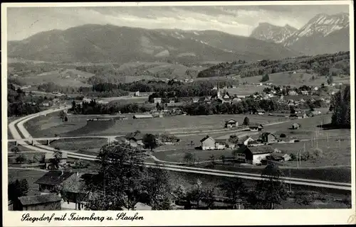
[[[61,150],[90,150],[94,148],[99,150],[107,143],[106,138],[61,139],[53,141],[50,146]]]

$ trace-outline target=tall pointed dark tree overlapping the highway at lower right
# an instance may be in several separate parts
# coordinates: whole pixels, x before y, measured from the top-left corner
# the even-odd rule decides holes
[[[281,170],[273,162],[268,163],[263,170],[261,177],[263,180],[256,185],[256,198],[254,203],[263,209],[274,209],[276,204],[281,204],[287,199],[288,191],[286,184],[281,177],[283,176]]]

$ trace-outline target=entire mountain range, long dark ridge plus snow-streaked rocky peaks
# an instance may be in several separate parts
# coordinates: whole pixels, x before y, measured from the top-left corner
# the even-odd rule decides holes
[[[47,62],[226,62],[349,50],[345,13],[319,14],[300,29],[260,23],[250,37],[220,31],[86,24],[8,42],[8,57]]]

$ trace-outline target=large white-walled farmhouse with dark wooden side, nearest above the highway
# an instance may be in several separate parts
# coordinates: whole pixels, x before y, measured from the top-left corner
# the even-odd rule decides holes
[[[271,146],[248,147],[241,145],[241,147],[236,150],[239,160],[253,165],[261,164],[261,160],[266,159],[266,157],[273,154],[273,152],[274,150]]]

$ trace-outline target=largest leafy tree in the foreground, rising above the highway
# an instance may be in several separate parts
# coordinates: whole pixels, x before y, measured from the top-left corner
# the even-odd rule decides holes
[[[103,146],[98,154],[98,174],[85,179],[90,210],[135,210],[147,194],[144,155],[130,145],[117,142]]]

